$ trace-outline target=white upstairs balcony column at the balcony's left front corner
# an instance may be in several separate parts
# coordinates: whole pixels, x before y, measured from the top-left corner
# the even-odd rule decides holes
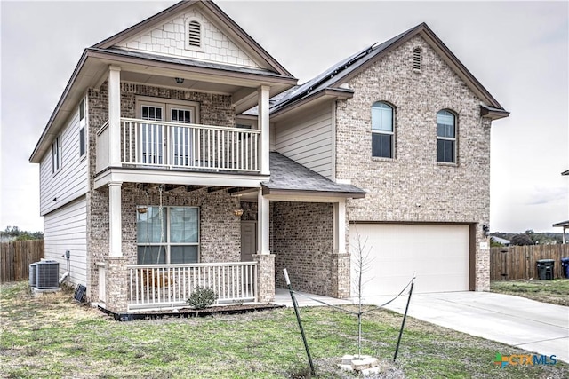
[[[108,67],[108,162],[121,164],[121,67]]]

